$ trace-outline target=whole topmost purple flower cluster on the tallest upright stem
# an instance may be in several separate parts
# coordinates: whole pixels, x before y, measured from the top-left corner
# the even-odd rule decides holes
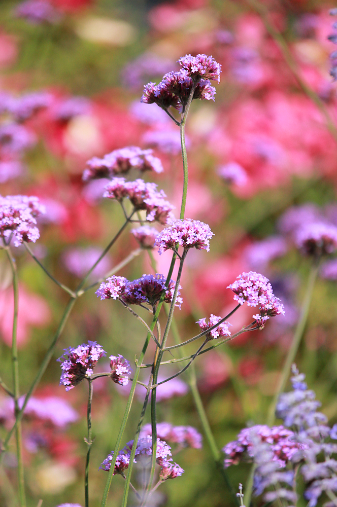
[[[165,74],[158,85],[145,85],[142,102],[155,103],[165,111],[171,106],[184,111],[193,88],[193,99],[214,100],[215,88],[209,80],[220,82],[221,65],[212,56],[202,54],[185,55],[178,61],[180,70]]]

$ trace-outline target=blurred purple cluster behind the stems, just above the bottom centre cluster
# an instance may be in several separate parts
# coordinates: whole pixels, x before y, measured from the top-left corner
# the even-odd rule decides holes
[[[152,436],[151,423],[145,424],[141,430],[141,437],[147,436]],[[193,449],[203,447],[203,437],[193,426],[173,426],[168,422],[159,422],[157,437],[165,442],[179,444],[181,447],[192,447]]]

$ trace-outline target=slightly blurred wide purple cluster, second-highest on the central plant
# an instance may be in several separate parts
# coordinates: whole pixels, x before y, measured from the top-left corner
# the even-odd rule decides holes
[[[93,157],[87,162],[88,168],[83,172],[83,181],[112,178],[116,174],[125,174],[131,169],[160,173],[163,171],[163,166],[160,159],[154,157],[152,152],[153,150],[142,150],[138,146],[127,146],[114,150],[103,158]]]

